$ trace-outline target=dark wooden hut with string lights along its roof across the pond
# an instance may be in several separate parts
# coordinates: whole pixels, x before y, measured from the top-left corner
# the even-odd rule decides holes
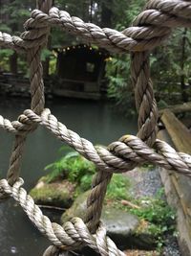
[[[53,94],[84,99],[99,99],[104,89],[106,51],[76,45],[57,51],[57,80]]]

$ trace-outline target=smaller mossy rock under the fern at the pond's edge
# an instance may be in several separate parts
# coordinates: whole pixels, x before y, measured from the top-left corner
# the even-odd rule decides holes
[[[42,177],[30,192],[34,202],[68,209],[74,201],[74,184],[67,180],[53,183],[44,180]]]

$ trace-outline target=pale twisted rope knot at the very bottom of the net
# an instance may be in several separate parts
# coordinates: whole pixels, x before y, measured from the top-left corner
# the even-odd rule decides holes
[[[124,256],[124,253],[117,249],[116,244],[107,237],[106,228],[101,221],[99,221],[94,235],[90,233],[86,224],[79,218],[66,222],[63,228],[58,224],[53,224],[53,228],[60,241],[66,245],[59,247],[52,245],[48,247],[43,256],[70,256],[70,251],[72,252],[72,250],[85,245],[88,245],[102,256]],[[66,240],[67,236],[68,239]]]

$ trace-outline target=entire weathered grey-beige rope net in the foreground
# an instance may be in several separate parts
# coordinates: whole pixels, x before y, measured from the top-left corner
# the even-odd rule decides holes
[[[134,20],[133,26],[122,32],[84,23],[68,12],[52,7],[52,2],[37,0],[37,9],[32,11],[31,18],[24,24],[25,32],[20,36],[0,32],[0,46],[27,54],[32,94],[31,109],[25,110],[17,121],[11,122],[0,116],[0,127],[15,136],[7,179],[0,180],[0,198],[14,198],[38,230],[50,240],[52,245],[44,256],[65,255],[67,251],[85,245],[102,256],[122,256],[124,253],[107,237],[106,229],[100,221],[103,199],[112,175],[128,172],[148,162],[191,176],[191,156],[177,152],[157,139],[159,114],[149,67],[149,51],[163,42],[173,28],[191,27],[191,1],[151,0]],[[131,54],[131,74],[138,109],[138,136],[125,135],[107,148],[95,147],[58,122],[50,109],[45,108],[40,56],[52,26],[81,36],[113,53]],[[63,226],[51,222],[22,187],[24,181],[19,176],[25,141],[27,135],[39,125],[48,128],[56,138],[96,164],[97,173],[91,195],[87,198],[84,221],[74,218]]]

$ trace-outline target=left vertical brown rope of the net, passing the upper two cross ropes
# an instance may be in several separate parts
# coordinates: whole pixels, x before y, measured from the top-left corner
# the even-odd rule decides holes
[[[49,12],[52,7],[52,1],[37,1],[37,7],[40,8],[42,12]],[[27,34],[23,33],[21,37],[24,40],[34,40],[35,36],[42,35],[43,41],[41,45],[33,47],[28,51],[28,62],[30,64],[30,80],[31,80],[31,94],[32,94],[32,110],[40,114],[44,109],[44,83],[43,83],[43,71],[42,64],[40,61],[41,48],[46,43],[49,33],[49,27],[43,27],[40,30],[31,29]],[[33,33],[33,31],[35,33]],[[33,130],[35,126],[32,126],[30,130]],[[20,173],[21,166],[21,156],[24,150],[25,141],[28,132],[23,132],[15,136],[15,142],[13,145],[13,150],[10,159],[10,168],[8,170],[8,181],[11,185],[16,181]]]

